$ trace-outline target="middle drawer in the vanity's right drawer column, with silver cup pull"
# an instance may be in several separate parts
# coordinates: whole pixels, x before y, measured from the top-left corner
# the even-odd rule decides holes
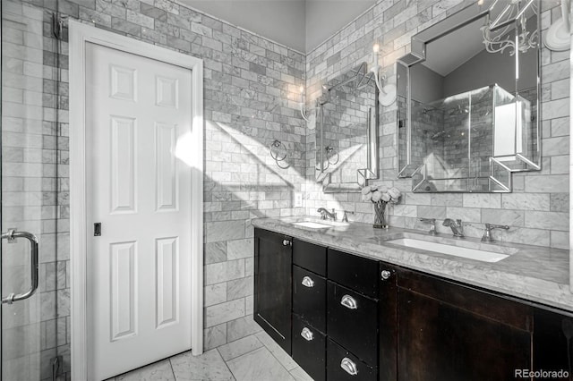
[[[378,360],[378,302],[327,281],[327,334],[369,364]]]

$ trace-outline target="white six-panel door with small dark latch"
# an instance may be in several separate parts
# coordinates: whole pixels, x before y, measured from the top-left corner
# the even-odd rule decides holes
[[[91,43],[85,54],[88,367],[100,380],[191,349],[191,169],[177,145],[192,75]]]

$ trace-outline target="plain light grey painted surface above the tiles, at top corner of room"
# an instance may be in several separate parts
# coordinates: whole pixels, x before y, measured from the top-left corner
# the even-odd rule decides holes
[[[218,19],[306,53],[376,0],[179,0]]]

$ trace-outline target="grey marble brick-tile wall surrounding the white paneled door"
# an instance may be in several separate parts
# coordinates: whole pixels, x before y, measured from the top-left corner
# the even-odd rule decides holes
[[[56,7],[68,20],[79,20],[204,60],[205,349],[257,332],[259,328],[252,320],[251,219],[304,214],[304,207],[293,207],[295,192],[300,192],[304,184],[306,164],[304,124],[297,112],[298,89],[304,84],[304,55],[175,1],[10,0],[5,3],[39,10],[42,18],[39,32],[44,34],[43,41],[47,44],[44,49],[49,53],[45,53],[43,62],[40,59],[40,72],[52,71],[56,64],[56,45],[50,36],[51,13]],[[42,356],[47,364],[56,353],[63,354],[64,372],[70,368],[67,131],[73,129],[68,126],[65,97],[66,41],[67,28],[62,54],[57,57],[62,68],[61,89],[65,92],[57,98],[49,90],[56,89],[54,78],[38,80],[47,94],[38,100],[40,130],[42,126],[44,130],[34,138],[40,145],[49,144],[54,153],[57,148],[59,160],[59,188],[44,196],[38,193],[40,199],[50,200],[38,224],[52,229],[49,233],[53,236],[50,241],[54,244],[54,250],[50,251],[53,257],[44,260],[42,271],[45,282],[53,285],[42,292],[41,314],[49,317],[42,323],[45,338],[57,336],[57,340],[52,340],[56,344]],[[54,123],[56,105],[58,126]],[[269,156],[273,140],[280,140],[286,148],[286,159],[281,162],[284,169]],[[21,163],[30,166],[29,159],[24,158]],[[36,194],[30,194],[27,199],[35,197]],[[51,368],[42,368],[41,378],[51,376],[48,371]]]

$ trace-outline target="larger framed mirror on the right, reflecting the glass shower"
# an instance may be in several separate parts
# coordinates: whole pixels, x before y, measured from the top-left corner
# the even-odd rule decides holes
[[[480,5],[481,4],[481,5]],[[415,192],[509,192],[541,169],[539,0],[476,2],[398,60],[398,177]]]

